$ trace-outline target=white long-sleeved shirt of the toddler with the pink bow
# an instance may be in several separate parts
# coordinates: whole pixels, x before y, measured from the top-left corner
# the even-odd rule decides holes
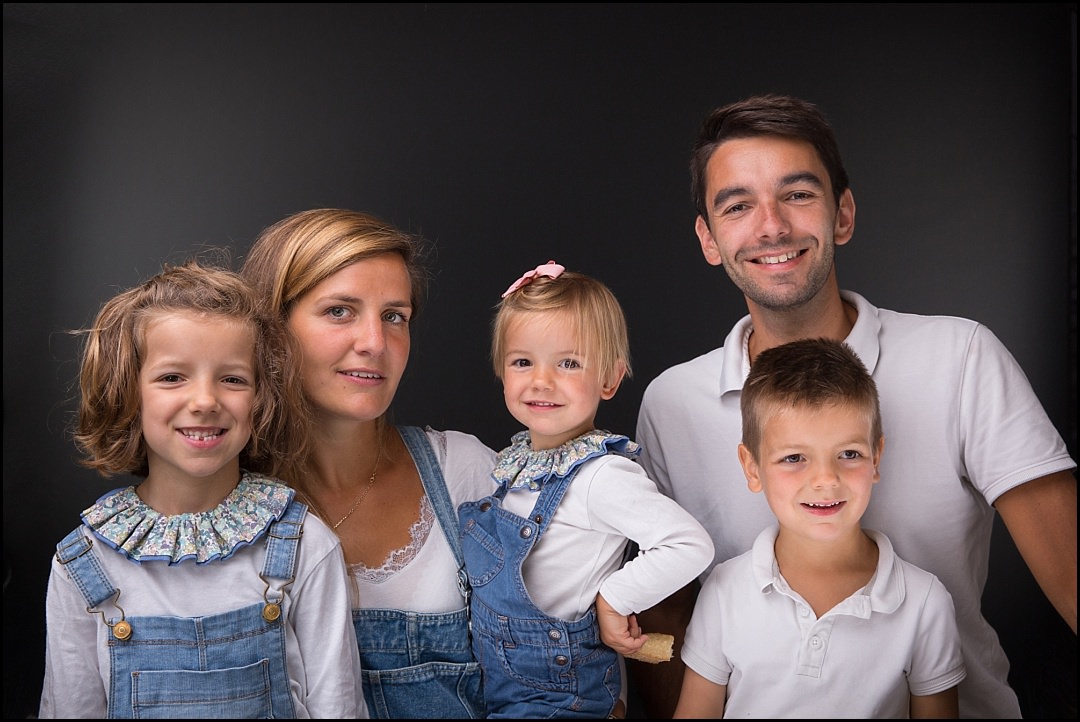
[[[492,483],[489,479],[485,494]],[[537,496],[514,489],[502,506],[527,517]],[[643,553],[620,569],[627,539]],[[608,454],[578,468],[522,575],[538,608],[576,621],[597,592],[620,614],[648,609],[686,586],[712,559],[704,528],[657,491],[637,462]]]

